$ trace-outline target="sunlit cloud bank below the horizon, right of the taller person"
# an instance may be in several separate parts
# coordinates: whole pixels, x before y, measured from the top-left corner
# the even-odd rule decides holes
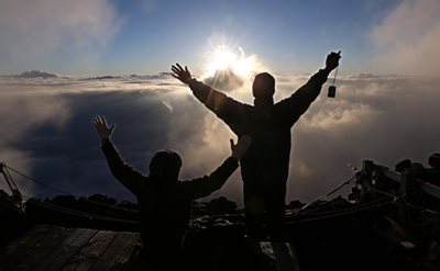
[[[427,165],[438,151],[439,79],[352,76],[337,98],[321,95],[294,126],[288,197],[311,201],[371,159],[393,168],[405,158]],[[314,196],[315,195],[315,196]]]

